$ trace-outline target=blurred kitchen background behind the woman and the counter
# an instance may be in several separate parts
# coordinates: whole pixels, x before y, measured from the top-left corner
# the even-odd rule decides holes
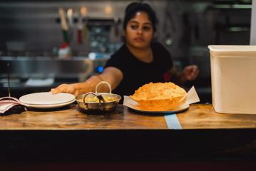
[[[8,72],[16,98],[101,73],[123,43],[123,11],[130,2],[0,1],[0,97],[8,95]],[[175,66],[200,68],[185,87],[194,85],[201,102],[211,103],[208,45],[249,45],[252,1],[145,2],[158,15],[156,38]]]

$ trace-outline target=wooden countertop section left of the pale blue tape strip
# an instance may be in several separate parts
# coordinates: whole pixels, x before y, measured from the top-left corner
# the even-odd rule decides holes
[[[166,129],[163,115],[134,113],[119,105],[111,113],[84,113],[77,105],[56,110],[29,109],[0,116],[0,130]]]

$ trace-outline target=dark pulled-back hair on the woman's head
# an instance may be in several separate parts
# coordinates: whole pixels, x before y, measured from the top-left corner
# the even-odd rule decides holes
[[[144,11],[148,14],[148,18],[152,23],[153,31],[156,30],[156,24],[158,19],[156,18],[155,11],[151,8],[150,5],[142,2],[132,2],[126,7],[126,14],[123,19],[123,29],[126,29],[128,21],[132,19],[138,11]]]

